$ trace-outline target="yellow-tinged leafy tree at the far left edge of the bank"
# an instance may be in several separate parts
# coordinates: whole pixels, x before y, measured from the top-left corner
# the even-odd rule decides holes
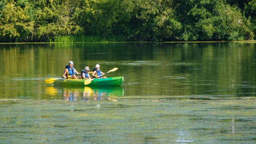
[[[29,20],[28,8],[2,0],[0,4],[0,42],[20,42],[32,35],[34,21]]]

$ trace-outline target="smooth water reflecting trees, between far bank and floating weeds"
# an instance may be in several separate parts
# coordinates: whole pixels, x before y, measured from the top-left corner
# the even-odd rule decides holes
[[[52,99],[44,80],[73,60],[81,71],[100,59],[108,77],[124,76],[128,96],[256,96],[254,43],[1,44],[1,98]],[[45,72],[47,71],[47,72]],[[29,74],[29,75],[28,75]],[[40,90],[40,92],[36,91]],[[50,96],[50,95],[48,95]]]

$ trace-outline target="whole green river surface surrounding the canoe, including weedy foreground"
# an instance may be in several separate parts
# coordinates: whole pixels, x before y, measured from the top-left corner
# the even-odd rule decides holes
[[[0,142],[255,143],[256,43],[0,44]],[[59,87],[69,61],[119,87]]]

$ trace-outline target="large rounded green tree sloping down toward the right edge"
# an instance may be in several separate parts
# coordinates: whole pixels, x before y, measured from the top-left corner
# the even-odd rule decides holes
[[[184,10],[184,11],[182,11]],[[184,24],[182,40],[251,40],[249,21],[234,6],[216,0],[178,1],[176,11]]]

